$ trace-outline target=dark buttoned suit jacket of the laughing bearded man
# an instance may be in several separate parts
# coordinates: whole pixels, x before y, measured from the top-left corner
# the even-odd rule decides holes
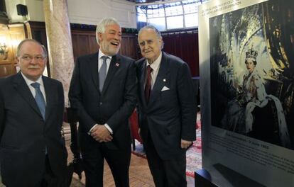
[[[87,135],[94,124],[107,123],[114,139],[104,143],[111,149],[130,147],[129,116],[136,106],[136,67],[122,55],[111,58],[102,93],[99,91],[98,52],[77,58],[70,83],[70,104],[77,110],[82,149],[96,141]]]

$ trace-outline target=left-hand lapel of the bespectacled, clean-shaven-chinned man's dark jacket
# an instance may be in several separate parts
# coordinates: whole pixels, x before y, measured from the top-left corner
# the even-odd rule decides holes
[[[23,79],[21,72],[18,72],[18,74],[16,74],[16,79],[14,79],[13,86],[16,91],[18,91],[18,94],[22,96],[23,99],[29,104],[29,106],[31,106],[31,108],[33,108],[33,110],[42,117],[35,98],[33,98],[33,94],[28,88],[26,81]]]

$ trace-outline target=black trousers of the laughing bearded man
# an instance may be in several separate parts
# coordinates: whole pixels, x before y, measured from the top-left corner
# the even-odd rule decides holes
[[[116,187],[129,187],[131,143],[127,149],[109,149],[103,143],[87,152],[82,152],[87,187],[102,187],[104,159],[106,159]]]

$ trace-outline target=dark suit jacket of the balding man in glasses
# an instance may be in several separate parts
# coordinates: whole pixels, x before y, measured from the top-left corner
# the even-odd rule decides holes
[[[21,73],[0,79],[0,164],[2,181],[7,186],[33,186],[42,179],[45,147],[53,173],[65,174],[62,84],[48,77],[42,79],[45,120]]]

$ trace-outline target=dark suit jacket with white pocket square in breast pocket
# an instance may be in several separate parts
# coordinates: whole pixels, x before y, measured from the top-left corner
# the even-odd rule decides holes
[[[136,62],[139,125],[143,142],[148,131],[161,159],[178,157],[180,140],[195,140],[196,101],[190,69],[183,60],[163,52],[158,75],[146,103],[146,60]],[[162,91],[166,86],[169,90]]]

